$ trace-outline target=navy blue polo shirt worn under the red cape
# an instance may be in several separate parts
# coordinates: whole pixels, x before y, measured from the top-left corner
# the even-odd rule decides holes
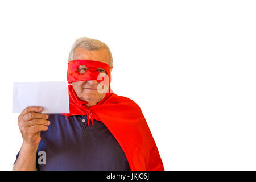
[[[88,126],[86,115],[48,115],[51,125],[41,131],[38,170],[130,170],[121,146],[101,121]]]

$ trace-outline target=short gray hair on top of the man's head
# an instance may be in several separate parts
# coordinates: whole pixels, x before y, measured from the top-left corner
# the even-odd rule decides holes
[[[69,55],[68,55],[69,61],[73,60],[73,53],[77,47],[82,47],[89,51],[106,49],[109,52],[110,67],[112,67],[112,65],[113,65],[112,53],[110,52],[109,47],[105,43],[101,42],[100,40],[90,39],[90,38],[86,38],[86,37],[76,39],[76,41],[75,41],[75,43],[73,43],[73,45],[71,47],[71,51],[69,52]]]

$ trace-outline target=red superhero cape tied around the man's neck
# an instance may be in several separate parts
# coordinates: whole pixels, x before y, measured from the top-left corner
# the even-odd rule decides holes
[[[132,171],[164,170],[146,119],[133,100],[106,93],[103,100],[87,107],[88,102],[77,97],[72,85],[68,85],[68,89],[70,114],[63,115],[87,115],[92,124],[93,119],[104,123],[125,152]]]

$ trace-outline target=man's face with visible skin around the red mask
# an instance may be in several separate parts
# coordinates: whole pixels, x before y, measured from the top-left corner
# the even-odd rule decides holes
[[[102,63],[110,64],[110,56],[106,49],[101,49],[98,51],[88,51],[84,48],[76,48],[73,52],[73,60],[93,60],[100,61]],[[78,72],[80,74],[85,73],[85,65],[80,65]],[[98,69],[100,73],[106,73],[104,69]],[[98,82],[97,80],[88,80],[88,81],[76,81],[72,82],[73,89],[75,90],[77,97],[82,101],[89,102],[89,105],[95,105],[97,102],[100,102],[106,93],[98,92]]]

